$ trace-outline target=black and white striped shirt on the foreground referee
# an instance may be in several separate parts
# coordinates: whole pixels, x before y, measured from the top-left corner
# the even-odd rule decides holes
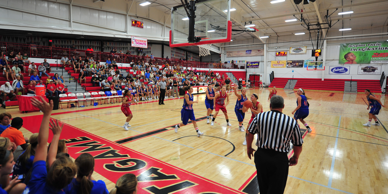
[[[249,125],[248,131],[257,133],[256,145],[263,149],[289,152],[290,141],[294,146],[303,144],[296,120],[275,110],[259,113]]]

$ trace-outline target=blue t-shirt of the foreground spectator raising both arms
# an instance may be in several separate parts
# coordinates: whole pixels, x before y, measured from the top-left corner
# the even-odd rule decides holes
[[[47,169],[46,161],[36,161],[32,165],[31,178],[24,189],[23,194],[64,194],[63,191],[56,191],[56,189],[47,185]]]

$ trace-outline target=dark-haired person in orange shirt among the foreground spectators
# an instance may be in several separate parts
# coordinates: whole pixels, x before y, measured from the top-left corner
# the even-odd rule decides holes
[[[11,126],[1,133],[0,137],[8,137],[11,142],[14,142],[16,146],[20,145],[23,150],[27,149],[28,138],[23,136],[23,133],[19,129],[23,126],[23,119],[15,117],[12,119]]]

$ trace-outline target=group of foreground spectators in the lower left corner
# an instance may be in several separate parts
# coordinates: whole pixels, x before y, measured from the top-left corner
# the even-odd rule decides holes
[[[73,162],[66,141],[59,139],[63,124],[58,120],[50,122],[52,101],[48,104],[42,97],[40,100],[31,100],[43,112],[43,118],[39,132],[29,138],[19,130],[23,126],[22,118],[0,114],[1,194],[137,193],[137,178],[133,174],[121,176],[109,192],[104,181],[92,177],[95,165],[92,155],[83,153]],[[49,130],[53,135],[47,146]]]

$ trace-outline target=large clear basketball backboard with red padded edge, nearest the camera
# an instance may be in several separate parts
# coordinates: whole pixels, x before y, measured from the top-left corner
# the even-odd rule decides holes
[[[189,43],[189,17],[183,5],[171,9],[170,47],[183,47],[220,42],[230,42],[230,0],[198,1],[195,11],[194,35],[200,42]]]

